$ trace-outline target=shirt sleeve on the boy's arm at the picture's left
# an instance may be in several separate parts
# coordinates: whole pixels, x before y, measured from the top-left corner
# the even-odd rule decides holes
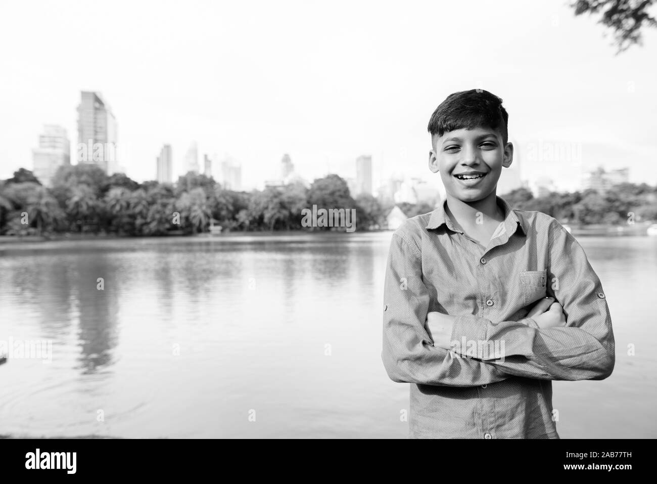
[[[429,306],[419,247],[397,231],[388,254],[383,308],[382,360],[390,379],[472,387],[509,377],[502,368],[434,347],[424,327]]]

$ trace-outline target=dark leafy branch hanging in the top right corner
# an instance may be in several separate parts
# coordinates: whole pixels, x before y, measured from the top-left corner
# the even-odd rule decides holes
[[[655,27],[657,20],[648,13],[654,0],[577,0],[570,6],[575,15],[583,13],[600,14],[599,22],[610,28],[614,34],[614,43],[621,53],[631,45],[642,45],[643,26]]]

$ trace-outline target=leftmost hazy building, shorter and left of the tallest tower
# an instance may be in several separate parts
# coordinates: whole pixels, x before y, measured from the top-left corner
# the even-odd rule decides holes
[[[34,176],[50,186],[57,168],[71,164],[71,143],[66,130],[57,124],[43,125],[39,147],[32,150]]]

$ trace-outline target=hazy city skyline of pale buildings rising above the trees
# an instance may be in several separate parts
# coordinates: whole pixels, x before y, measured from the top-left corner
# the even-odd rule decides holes
[[[102,95],[95,91],[81,91],[81,102],[78,105],[78,145],[76,158],[78,163],[91,163],[101,167],[107,174],[118,172],[118,150],[116,149],[116,133],[118,131],[116,118]],[[100,151],[98,148],[100,147]],[[594,170],[583,170],[581,143],[549,143],[540,140],[522,148],[528,160],[550,163],[552,168],[559,163],[570,165],[570,177],[564,185],[562,181],[541,172],[539,176],[529,180],[522,177],[520,160],[516,160],[501,176],[497,186],[497,193],[525,187],[532,191],[536,197],[544,196],[551,191],[581,191],[587,188],[605,190],[614,183],[629,182],[630,170],[627,167],[604,170],[599,164]],[[517,153],[517,151],[516,151]],[[189,144],[183,165],[183,172],[200,174],[198,161],[198,142],[193,140]],[[517,158],[517,157],[516,157]],[[57,168],[63,164],[70,164],[70,140],[66,130],[61,126],[45,124],[43,132],[39,135],[39,147],[32,150],[33,170],[37,178],[41,176],[43,183],[49,185]],[[205,176],[212,177],[212,164],[217,164],[217,181],[226,189],[240,191],[242,187],[242,165],[229,155],[219,162],[217,155],[210,157],[203,155],[203,170]],[[173,156],[170,144],[164,144],[160,155],[156,158],[156,177],[160,183],[172,183]],[[286,183],[300,182],[309,186],[309,183],[295,170],[289,153],[284,153],[280,162],[281,178],[264,181],[267,186],[283,186]],[[553,170],[554,172],[554,170]],[[328,170],[327,173],[328,174]],[[395,203],[422,203],[434,198],[438,194],[440,199],[445,198],[443,185],[434,186],[422,178],[408,176],[396,172],[387,180],[380,180],[378,187],[373,185],[373,164],[371,155],[360,155],[355,158],[355,178],[342,175],[348,184],[353,197],[367,194],[374,195],[380,200],[394,201]],[[422,192],[425,195],[422,195]],[[428,196],[426,195],[428,194]]]

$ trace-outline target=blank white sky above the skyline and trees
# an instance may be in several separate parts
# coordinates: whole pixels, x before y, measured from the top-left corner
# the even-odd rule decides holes
[[[428,118],[449,93],[483,87],[504,99],[523,178],[568,182],[568,162],[522,155],[579,143],[583,168],[628,166],[655,184],[657,31],[615,56],[597,18],[567,4],[5,1],[0,178],[32,169],[45,123],[75,153],[84,89],[112,107],[138,181],[155,178],[162,143],[181,174],[195,139],[201,168],[203,153],[229,154],[246,188],[277,178],[283,153],[307,180],[355,176],[371,154],[375,186],[393,172],[440,183]]]

